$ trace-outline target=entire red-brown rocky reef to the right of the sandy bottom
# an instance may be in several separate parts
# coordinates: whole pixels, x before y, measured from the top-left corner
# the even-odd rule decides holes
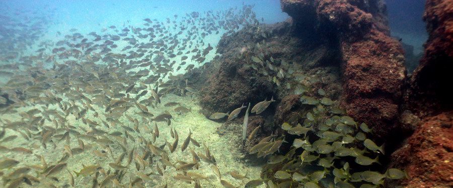
[[[268,110],[251,117],[248,134],[264,124],[253,145],[272,132],[284,134],[279,128],[284,121],[312,108],[300,102],[302,95],[328,96],[346,115],[369,125],[376,143],[387,144],[386,168],[407,172],[406,179],[386,180],[386,187],[453,186],[453,97],[448,92],[453,2],[426,2],[430,37],[409,77],[402,44],[390,37],[382,0],[281,0],[281,8],[291,19],[225,34],[217,46],[220,56],[186,75],[200,90],[201,112],[207,117],[231,112],[242,103],[253,105],[273,96],[276,102]],[[279,76],[278,69],[254,67],[254,61],[271,60],[286,75],[304,76],[272,79]],[[307,86],[303,92],[300,83]],[[325,94],[317,93],[320,88]],[[227,122],[218,132],[241,135],[231,125],[242,120]]]

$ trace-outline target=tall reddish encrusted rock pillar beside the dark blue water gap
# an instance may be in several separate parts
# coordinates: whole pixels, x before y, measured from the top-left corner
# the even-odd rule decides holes
[[[368,2],[365,4],[364,2]],[[390,37],[383,1],[281,0],[297,25],[337,38],[347,114],[385,138],[397,126],[406,78],[401,44]]]

